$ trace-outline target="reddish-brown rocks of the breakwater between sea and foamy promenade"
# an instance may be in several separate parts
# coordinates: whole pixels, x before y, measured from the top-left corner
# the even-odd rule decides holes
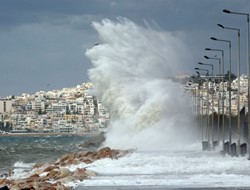
[[[87,169],[88,164],[104,158],[118,159],[129,152],[131,151],[105,147],[98,151],[66,154],[55,162],[36,164],[31,171],[24,173],[23,177],[18,179],[13,176],[0,179],[0,190],[71,189],[73,183],[96,175],[95,172]]]

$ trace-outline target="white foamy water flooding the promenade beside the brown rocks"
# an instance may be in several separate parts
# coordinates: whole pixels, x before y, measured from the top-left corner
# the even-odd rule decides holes
[[[98,173],[79,186],[249,187],[250,162],[245,157],[202,152],[200,143],[183,150],[137,151],[118,160],[87,166]],[[81,189],[81,188],[79,188]]]

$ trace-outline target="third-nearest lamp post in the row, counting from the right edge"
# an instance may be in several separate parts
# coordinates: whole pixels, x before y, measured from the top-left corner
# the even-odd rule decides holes
[[[228,123],[229,123],[229,146],[231,146],[232,143],[232,122],[231,122],[231,117],[232,117],[232,110],[231,110],[231,41],[230,40],[222,40],[222,39],[217,39],[214,37],[210,38],[211,40],[215,41],[220,41],[220,42],[227,42],[229,44],[229,79],[228,79],[228,89],[229,89],[229,118],[228,118]],[[231,153],[231,149],[229,148],[229,153]]]

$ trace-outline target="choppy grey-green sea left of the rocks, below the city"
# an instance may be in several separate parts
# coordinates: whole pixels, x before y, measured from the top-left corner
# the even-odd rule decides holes
[[[0,174],[25,164],[55,161],[60,156],[83,150],[91,135],[0,136]]]

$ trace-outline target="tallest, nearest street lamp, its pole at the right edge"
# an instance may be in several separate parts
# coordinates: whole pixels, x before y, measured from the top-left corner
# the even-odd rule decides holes
[[[247,74],[248,74],[248,153],[250,158],[250,36],[249,36],[249,14],[248,13],[240,13],[240,12],[234,12],[227,9],[223,10],[224,13],[228,14],[236,14],[236,15],[243,15],[247,16]]]

